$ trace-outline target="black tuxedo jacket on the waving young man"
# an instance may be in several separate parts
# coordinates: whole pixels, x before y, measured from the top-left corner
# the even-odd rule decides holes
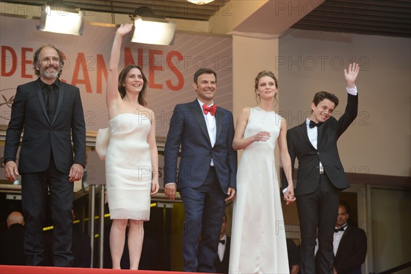
[[[323,164],[325,173],[336,188],[341,190],[349,187],[349,182],[340,156],[338,155],[337,140],[356,119],[358,112],[358,95],[349,95],[347,107],[338,121],[331,117],[318,128],[317,149],[308,139],[306,121],[287,132],[288,152],[290,153],[292,169],[295,158],[299,162],[297,186],[295,195],[304,195],[314,192],[319,184],[319,162]],[[293,173],[294,174],[294,173]],[[283,177],[283,187],[286,179]]]

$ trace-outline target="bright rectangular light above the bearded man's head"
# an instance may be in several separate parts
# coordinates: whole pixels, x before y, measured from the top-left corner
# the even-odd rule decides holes
[[[66,12],[53,10],[49,5],[42,8],[38,30],[42,32],[55,32],[58,34],[82,35],[86,18],[83,12]]]

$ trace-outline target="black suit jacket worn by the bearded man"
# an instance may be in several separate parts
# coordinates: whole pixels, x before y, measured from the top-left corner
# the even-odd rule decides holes
[[[61,172],[69,173],[73,162],[85,166],[86,127],[79,88],[60,81],[55,116],[49,121],[40,78],[18,86],[5,138],[4,162],[16,161],[23,129],[20,173],[47,170],[51,151]]]

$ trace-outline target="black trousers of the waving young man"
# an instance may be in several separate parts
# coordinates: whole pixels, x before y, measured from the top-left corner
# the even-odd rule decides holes
[[[319,187],[312,193],[297,197],[300,223],[300,273],[332,274],[334,263],[333,237],[338,216],[340,190],[327,175],[320,175]],[[318,232],[317,232],[318,228]],[[319,250],[314,259],[316,234]],[[317,271],[316,271],[317,262]]]

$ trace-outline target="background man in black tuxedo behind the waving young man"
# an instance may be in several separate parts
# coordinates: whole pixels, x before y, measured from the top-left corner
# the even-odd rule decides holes
[[[340,203],[334,231],[334,274],[361,274],[366,256],[364,230],[347,223],[347,206]]]

